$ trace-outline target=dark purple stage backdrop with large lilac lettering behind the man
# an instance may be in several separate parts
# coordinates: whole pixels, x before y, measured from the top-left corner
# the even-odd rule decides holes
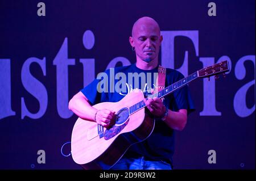
[[[0,169],[81,169],[60,152],[77,119],[68,100],[106,68],[135,62],[128,40],[142,16],[159,23],[164,66],[231,68],[189,85],[196,111],[176,134],[175,168],[255,169],[255,1],[212,1],[216,16],[209,1],[43,0],[46,16],[39,2],[0,1]]]

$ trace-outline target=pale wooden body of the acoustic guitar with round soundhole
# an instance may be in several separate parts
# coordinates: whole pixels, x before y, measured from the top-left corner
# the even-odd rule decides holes
[[[110,169],[131,145],[150,136],[155,120],[144,112],[144,108],[131,115],[128,109],[143,98],[143,92],[135,90],[119,102],[94,105],[98,110],[115,111],[118,117],[112,128],[104,128],[101,137],[96,122],[77,119],[71,138],[73,160],[84,169]]]

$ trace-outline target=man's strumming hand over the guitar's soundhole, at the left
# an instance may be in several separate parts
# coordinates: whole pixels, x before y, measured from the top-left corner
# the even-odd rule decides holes
[[[98,124],[102,125],[105,128],[108,128],[114,125],[115,112],[111,110],[98,110],[95,116],[95,120]]]

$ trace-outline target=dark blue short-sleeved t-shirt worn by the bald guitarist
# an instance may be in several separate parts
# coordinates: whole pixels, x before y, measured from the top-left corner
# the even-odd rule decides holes
[[[108,69],[97,76],[92,83],[81,92],[92,105],[101,102],[118,102],[131,91],[141,89],[145,95],[154,89],[158,66],[152,70],[142,70],[135,64]],[[155,76],[154,76],[155,75]],[[174,69],[166,69],[165,87],[184,78],[183,74]],[[195,110],[188,86],[184,86],[164,97],[164,105],[172,110],[186,109],[188,113]],[[132,145],[123,157],[143,155],[152,160],[162,160],[172,163],[175,145],[174,130],[162,120],[155,121],[154,131],[146,140]]]

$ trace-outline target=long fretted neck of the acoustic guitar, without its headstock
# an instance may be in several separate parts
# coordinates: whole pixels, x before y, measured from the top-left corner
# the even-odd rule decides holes
[[[198,77],[198,71],[195,73],[188,75],[188,77],[185,77],[183,79],[180,79],[179,81],[173,83],[172,85],[164,88],[163,90],[160,90],[159,92],[156,92],[155,94],[152,94],[148,96],[148,98],[163,98],[164,96],[167,96],[168,94],[171,94],[172,92],[180,89],[181,87],[187,85],[189,82],[195,80]],[[146,98],[146,99],[148,99]],[[133,106],[129,107],[129,113],[130,115],[138,110],[141,110],[142,108],[146,107],[144,101],[140,101]]]

